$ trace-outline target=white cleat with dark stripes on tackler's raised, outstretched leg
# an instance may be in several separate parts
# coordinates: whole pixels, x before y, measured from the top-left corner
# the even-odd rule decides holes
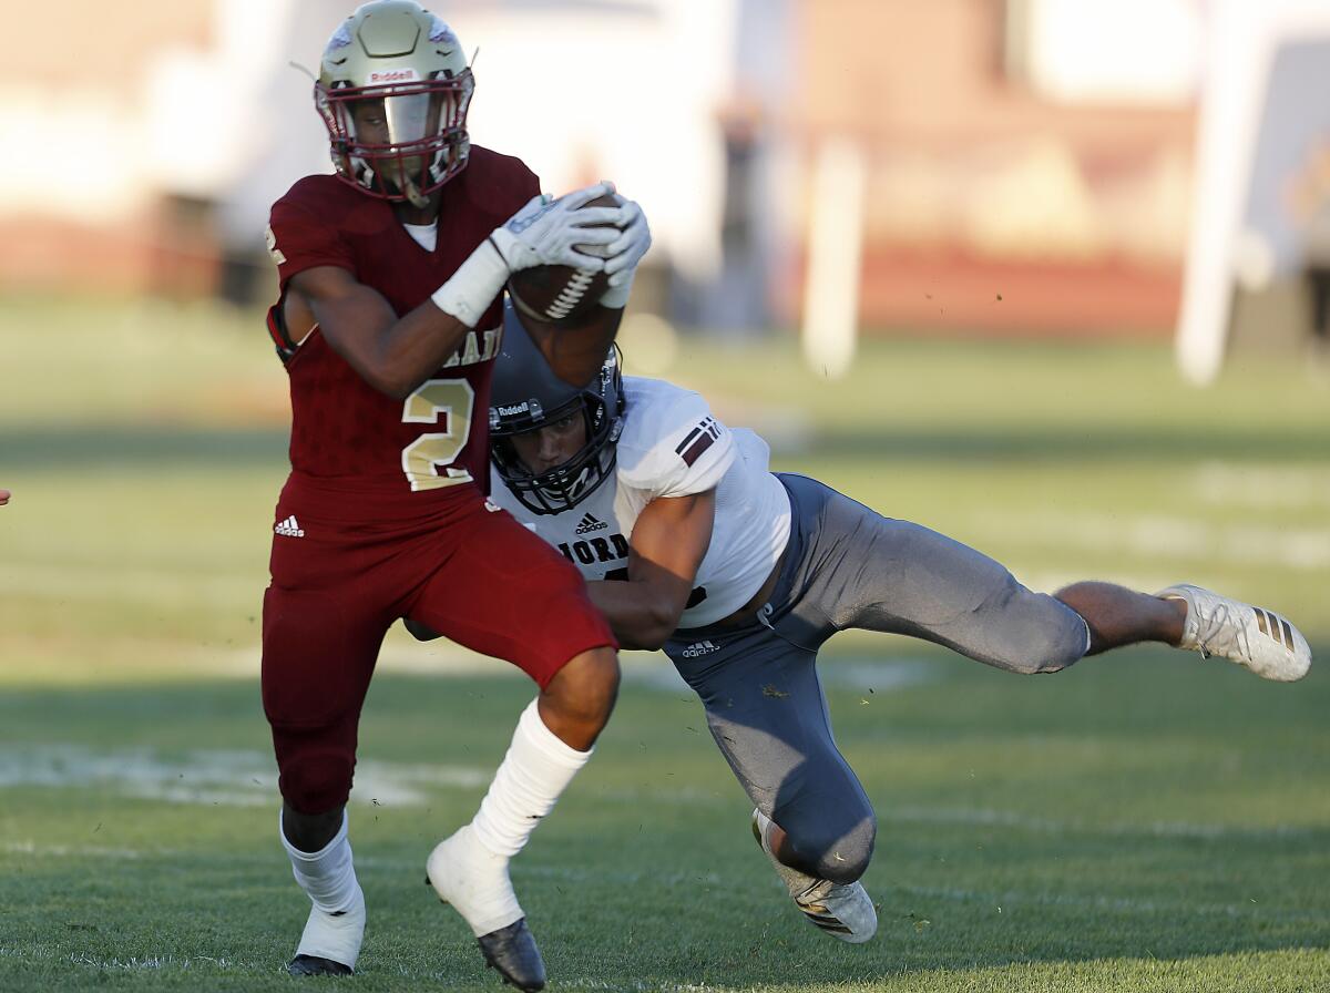
[[[1262,679],[1281,683],[1301,679],[1311,666],[1311,647],[1302,631],[1273,610],[1185,582],[1154,596],[1186,604],[1178,647],[1193,649],[1206,658],[1222,655]]]

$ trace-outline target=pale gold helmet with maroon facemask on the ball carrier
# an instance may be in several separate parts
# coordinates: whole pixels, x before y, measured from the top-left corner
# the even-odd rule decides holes
[[[323,49],[314,85],[338,175],[424,206],[467,165],[473,86],[458,36],[420,4],[356,8]]]

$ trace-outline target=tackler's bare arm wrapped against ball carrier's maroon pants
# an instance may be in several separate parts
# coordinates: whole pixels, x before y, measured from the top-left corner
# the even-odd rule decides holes
[[[625,649],[658,649],[678,627],[714,524],[714,489],[653,500],[633,525],[628,581],[587,584]]]

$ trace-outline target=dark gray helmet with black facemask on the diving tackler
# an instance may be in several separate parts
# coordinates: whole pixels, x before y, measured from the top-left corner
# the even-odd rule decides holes
[[[489,392],[489,457],[523,506],[555,514],[589,497],[614,472],[616,445],[624,429],[624,383],[618,351],[610,347],[596,379],[577,388],[549,368],[517,311],[504,303],[503,351],[495,360]],[[517,457],[512,439],[569,415],[587,423],[587,444],[568,461],[539,475]]]

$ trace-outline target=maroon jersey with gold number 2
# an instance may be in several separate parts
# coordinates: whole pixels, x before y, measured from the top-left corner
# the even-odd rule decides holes
[[[332,175],[309,175],[273,205],[269,250],[282,292],[291,276],[338,266],[378,290],[400,316],[423,303],[489,235],[540,191],[520,160],[472,146],[443,187],[435,250],[426,251],[386,201]],[[283,342],[291,382],[291,468],[382,509],[420,508],[454,487],[488,489],[489,378],[503,326],[500,302],[458,354],[406,400],[380,393],[314,331]],[[412,497],[412,495],[420,495]]]

